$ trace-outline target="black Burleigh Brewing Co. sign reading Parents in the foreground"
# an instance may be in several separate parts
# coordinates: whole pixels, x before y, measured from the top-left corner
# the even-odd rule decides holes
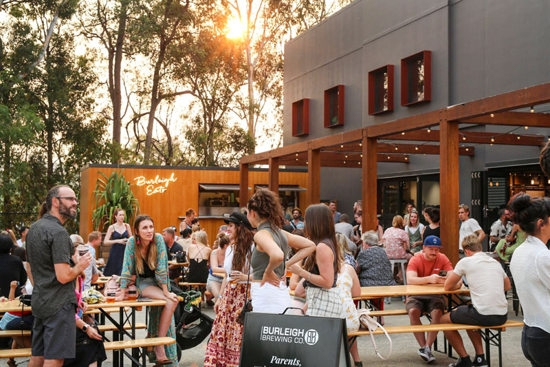
[[[241,367],[349,367],[346,320],[247,313]]]

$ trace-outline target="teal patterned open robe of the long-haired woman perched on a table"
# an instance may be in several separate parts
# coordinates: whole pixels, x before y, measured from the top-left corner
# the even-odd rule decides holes
[[[162,235],[155,233],[155,240],[150,246],[155,245],[157,247],[157,268],[155,269],[155,280],[157,281],[157,286],[162,288],[161,284],[166,284],[168,286],[168,291],[170,291],[170,282],[168,281],[168,257],[166,255],[166,244],[162,239]],[[132,280],[132,275],[137,275],[135,271],[135,240],[132,236],[126,242],[126,251],[124,251],[124,262],[122,264],[122,275],[120,275],[120,288],[126,289]],[[135,285],[137,289],[140,289],[140,275],[135,277]],[[160,324],[160,315],[164,310],[163,306],[151,306],[149,307],[149,322],[147,328],[147,337],[157,337],[159,335],[159,324]],[[175,333],[175,324],[174,317],[172,316],[172,321],[170,322],[170,327],[168,328],[167,337],[176,339]],[[172,364],[168,366],[175,367],[178,366],[177,361],[177,347],[176,344],[171,344],[164,346],[166,351],[166,358],[172,361]],[[149,361],[153,364],[156,364],[157,358],[155,352],[150,350],[148,352]]]

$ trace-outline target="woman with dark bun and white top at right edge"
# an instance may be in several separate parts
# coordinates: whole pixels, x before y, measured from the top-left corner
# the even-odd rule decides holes
[[[550,356],[550,198],[518,193],[508,203],[512,221],[527,240],[514,251],[510,271],[523,308],[521,348],[531,366],[549,366]]]

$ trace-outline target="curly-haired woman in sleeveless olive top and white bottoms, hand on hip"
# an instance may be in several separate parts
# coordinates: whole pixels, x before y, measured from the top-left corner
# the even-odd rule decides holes
[[[258,232],[252,253],[252,309],[254,312],[283,313],[291,306],[286,284],[287,266],[292,266],[315,251],[307,238],[281,230],[285,223],[283,207],[276,193],[260,189],[248,200],[248,221]],[[288,247],[296,249],[285,266]]]

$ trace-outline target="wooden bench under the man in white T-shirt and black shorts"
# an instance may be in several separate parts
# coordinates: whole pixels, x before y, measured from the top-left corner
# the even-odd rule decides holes
[[[397,310],[399,311],[399,310]],[[382,311],[383,312],[383,311]],[[485,354],[487,355],[487,361],[491,360],[491,345],[498,347],[498,366],[502,367],[502,338],[500,333],[506,331],[506,328],[514,328],[523,326],[523,322],[508,320],[505,324],[500,326],[477,326],[477,325],[465,325],[465,324],[428,324],[428,325],[407,325],[407,326],[386,326],[386,332],[388,334],[401,334],[401,333],[428,333],[430,331],[459,331],[459,330],[477,330],[481,333],[481,337],[485,340]],[[361,335],[370,335],[368,330],[359,330],[353,333],[348,333],[348,342],[351,346],[357,337]],[[384,334],[381,328],[377,328],[373,331],[373,335]]]

